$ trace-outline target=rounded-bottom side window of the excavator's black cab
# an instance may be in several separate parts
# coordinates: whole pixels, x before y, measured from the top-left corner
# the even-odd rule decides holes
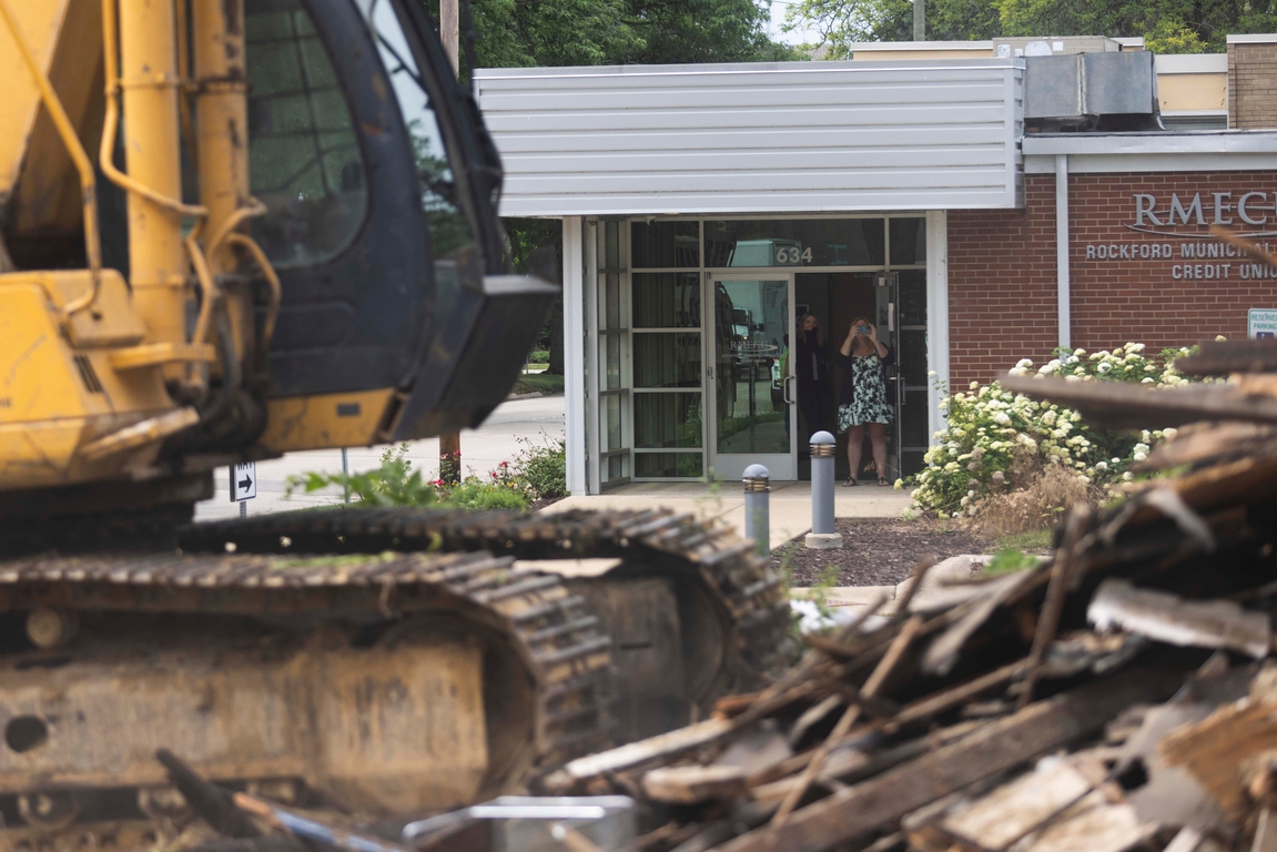
[[[300,0],[245,9],[253,238],[280,267],[340,254],[368,212],[365,167],[332,59]]]

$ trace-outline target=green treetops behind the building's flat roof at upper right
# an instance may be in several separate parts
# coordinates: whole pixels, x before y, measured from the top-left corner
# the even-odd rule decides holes
[[[1160,54],[1223,52],[1228,33],[1277,29],[1277,0],[926,0],[927,38],[1143,36]],[[810,28],[830,59],[849,45],[913,37],[911,0],[799,0],[787,28]]]

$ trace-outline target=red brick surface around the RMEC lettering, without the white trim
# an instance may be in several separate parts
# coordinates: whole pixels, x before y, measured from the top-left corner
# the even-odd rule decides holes
[[[1231,192],[1236,204],[1246,192],[1267,193],[1266,226],[1273,213],[1277,174],[1163,172],[1074,174],[1069,179],[1069,267],[1074,346],[1089,351],[1139,341],[1149,349],[1183,346],[1216,335],[1244,337],[1248,308],[1277,308],[1277,280],[1243,278],[1245,258],[1185,258],[1183,245],[1217,245],[1213,239],[1163,236],[1130,230],[1135,194],[1157,199],[1166,220],[1171,193],[1188,206],[1200,193],[1207,222],[1214,217],[1212,193]],[[1258,201],[1258,199],[1255,199]],[[1228,202],[1226,202],[1228,203]],[[1235,220],[1236,211],[1225,213]],[[1148,222],[1145,222],[1148,225]],[[1172,230],[1165,226],[1160,230]],[[1180,234],[1205,234],[1195,215]],[[1277,248],[1277,240],[1268,238]],[[1087,247],[1170,247],[1170,257],[1087,258]],[[1098,254],[1098,252],[1097,252]],[[950,381],[959,387],[988,381],[1020,358],[1042,364],[1056,345],[1055,176],[1025,175],[1023,211],[962,211],[949,215]],[[1212,280],[1179,278],[1176,267],[1214,267]],[[1225,270],[1227,267],[1227,270]],[[1205,268],[1202,270],[1205,273]],[[1223,275],[1227,277],[1222,277]]]

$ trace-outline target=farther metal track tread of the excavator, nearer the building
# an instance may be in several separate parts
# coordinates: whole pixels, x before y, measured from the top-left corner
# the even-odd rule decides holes
[[[670,510],[557,513],[429,508],[333,508],[183,528],[186,551],[379,553],[489,551],[518,559],[619,558],[635,571],[697,576],[732,621],[736,688],[784,668],[789,605],[767,559],[733,530]]]

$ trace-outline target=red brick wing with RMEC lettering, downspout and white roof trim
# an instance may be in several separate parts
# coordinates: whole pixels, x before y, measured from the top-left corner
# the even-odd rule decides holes
[[[1246,142],[1267,147],[1274,135],[1257,134]],[[1236,257],[1211,236],[1209,225],[1225,224],[1259,240],[1277,236],[1277,172],[1254,167],[1255,156],[1269,155],[1237,156],[1226,149],[1227,139],[1226,134],[1025,139],[1024,207],[955,211],[948,217],[950,381],[985,382],[1020,358],[1041,364],[1065,342],[1094,351],[1128,341],[1161,349],[1216,335],[1244,337],[1248,309],[1277,307],[1277,275]],[[1068,175],[1069,305],[1061,314],[1056,175],[1032,170],[1050,161],[1041,165],[1054,171],[1055,156],[1068,157],[1073,170],[1091,164],[1082,153],[1029,152],[1068,152],[1092,142],[1120,146],[1122,153],[1107,155],[1106,171]],[[1191,144],[1200,152],[1163,155],[1161,170],[1137,171],[1147,169],[1142,158],[1149,149],[1172,144]],[[1203,156],[1214,167],[1202,169]],[[1185,165],[1175,170],[1180,158]],[[1241,198],[1248,199],[1251,225],[1237,215]],[[1174,199],[1179,207],[1172,221]],[[1156,207],[1140,216],[1140,203]]]

